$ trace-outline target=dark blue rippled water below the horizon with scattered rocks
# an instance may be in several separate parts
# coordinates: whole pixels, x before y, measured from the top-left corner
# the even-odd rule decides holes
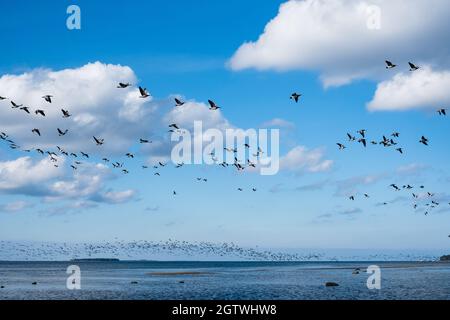
[[[66,288],[72,264],[81,268],[81,290]],[[367,288],[369,265],[381,268],[380,290]],[[0,299],[450,299],[450,264],[0,262],[0,285]]]

